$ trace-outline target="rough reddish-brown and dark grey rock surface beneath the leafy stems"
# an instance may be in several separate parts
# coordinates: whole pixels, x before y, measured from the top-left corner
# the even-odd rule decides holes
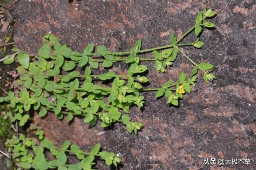
[[[144,124],[138,135],[129,134],[122,124],[108,129],[88,127],[82,119],[68,124],[54,114],[45,119],[35,115],[34,121],[56,145],[70,140],[88,150],[100,142],[102,149],[122,155],[122,170],[256,169],[255,0],[19,0],[11,12],[16,18],[14,42],[16,47],[36,53],[42,36],[51,31],[76,51],[83,51],[91,42],[111,51],[127,51],[138,39],[146,49],[167,45],[170,32],[180,37],[194,25],[196,14],[203,7],[217,12],[212,19],[216,29],[204,29],[202,49],[182,49],[196,63],[214,64],[217,80],[206,84],[200,74],[198,83],[179,107],[166,104],[165,98],[156,100],[154,92],[145,93],[144,109],[131,109],[132,121]],[[192,33],[182,42],[195,39]],[[152,62],[142,63],[149,70],[148,88],[176,80],[181,71],[189,73],[193,68],[180,54],[165,74],[156,73]],[[0,64],[0,68],[15,67]],[[115,63],[111,68],[117,73],[126,69],[125,63]],[[6,70],[1,71],[1,76],[2,72]],[[251,164],[204,165],[204,158],[249,158]],[[97,162],[96,168],[109,169],[102,161]]]

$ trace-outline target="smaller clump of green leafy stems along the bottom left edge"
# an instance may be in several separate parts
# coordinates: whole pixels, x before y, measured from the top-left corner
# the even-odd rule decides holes
[[[40,129],[40,128],[39,128]],[[40,129],[40,131],[42,131]],[[38,131],[37,131],[38,132]],[[39,135],[40,136],[40,135]],[[32,138],[25,137],[23,134],[19,136],[13,135],[12,139],[8,139],[5,143],[8,153],[12,155],[14,164],[18,167],[17,170],[30,169],[35,170],[91,170],[95,165],[95,157],[101,157],[107,165],[121,161],[120,156],[116,156],[113,152],[100,151],[100,144],[97,143],[92,147],[90,152],[80,150],[78,145],[65,141],[60,148],[54,146],[52,141],[44,138],[41,139],[40,145]],[[45,152],[50,153],[55,157],[54,160],[47,161]],[[67,154],[73,154],[79,160],[76,164],[67,163]]]

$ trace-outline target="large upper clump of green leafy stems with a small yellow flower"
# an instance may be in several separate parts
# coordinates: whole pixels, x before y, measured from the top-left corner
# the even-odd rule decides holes
[[[12,122],[19,121],[19,125],[23,126],[30,117],[28,111],[33,108],[38,110],[40,117],[53,112],[58,119],[63,119],[66,115],[66,121],[71,121],[74,116],[78,116],[84,118],[84,123],[91,125],[100,120],[102,127],[120,122],[126,125],[129,133],[136,134],[143,125],[131,121],[128,114],[132,106],[143,107],[143,92],[156,91],[156,98],[166,96],[168,104],[178,106],[183,95],[190,93],[191,86],[195,86],[198,70],[204,73],[203,79],[207,83],[216,78],[210,73],[212,64],[197,64],[180,49],[181,46],[201,48],[204,43],[199,41],[198,36],[202,27],[214,27],[212,22],[206,21],[214,15],[212,10],[204,9],[204,12],[197,15],[195,25],[179,39],[171,33],[170,45],[150,49],[141,49],[142,43],[138,40],[130,51],[111,52],[104,46],[98,46],[94,52],[94,44],[90,43],[83,53],[79,53],[61,45],[54,35],[43,37],[44,44],[35,56],[14,48],[15,53],[7,57],[4,63],[13,63],[17,56],[20,66],[16,68],[19,78],[13,83],[16,91],[0,97],[0,102],[7,102],[16,114],[4,113],[4,117],[10,118]],[[198,38],[192,43],[180,44],[193,30]],[[154,58],[142,58],[141,53],[153,53]],[[144,76],[147,66],[140,64],[140,61],[152,61],[156,71],[164,73],[176,60],[178,53],[194,64],[190,75],[181,72],[176,81],[168,80],[157,88],[144,88],[144,83],[148,82],[148,78]],[[30,59],[32,57],[33,60]],[[109,68],[113,63],[122,61],[129,65],[127,74],[92,73],[92,68],[98,69],[99,63],[104,68]],[[82,71],[75,70],[77,68]],[[108,85],[96,81],[105,81]],[[44,134],[41,129],[38,134],[42,139]]]

